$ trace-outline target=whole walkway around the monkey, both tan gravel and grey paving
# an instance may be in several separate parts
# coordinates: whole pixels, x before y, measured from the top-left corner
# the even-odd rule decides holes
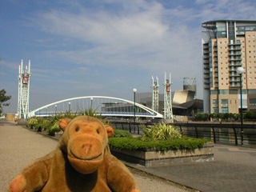
[[[46,138],[7,122],[0,122],[0,191],[6,191],[11,179],[34,158],[42,157],[57,145]],[[241,146],[214,146],[214,162],[183,163],[146,168],[127,166],[154,174],[199,191],[256,191],[256,149]],[[187,191],[172,183],[132,170],[142,191]]]

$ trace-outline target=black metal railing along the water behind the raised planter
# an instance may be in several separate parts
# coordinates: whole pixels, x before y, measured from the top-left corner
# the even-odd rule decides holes
[[[132,134],[143,134],[142,124],[146,127],[153,125],[150,122],[112,122],[114,128],[127,130]],[[240,123],[176,122],[170,124],[176,126],[184,137],[207,138],[215,143],[232,145],[256,145],[256,124],[253,123],[242,125],[243,134],[241,134]]]

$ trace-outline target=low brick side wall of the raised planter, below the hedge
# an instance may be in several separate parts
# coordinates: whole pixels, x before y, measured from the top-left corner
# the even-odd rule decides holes
[[[201,149],[196,150],[115,150],[111,154],[126,162],[142,166],[165,166],[182,162],[204,162],[214,160],[214,143],[206,142]]]

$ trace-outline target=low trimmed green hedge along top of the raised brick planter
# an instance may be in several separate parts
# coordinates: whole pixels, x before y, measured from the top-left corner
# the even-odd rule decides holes
[[[209,139],[181,138],[166,141],[143,142],[138,138],[109,138],[109,146],[117,150],[195,150],[202,148]]]

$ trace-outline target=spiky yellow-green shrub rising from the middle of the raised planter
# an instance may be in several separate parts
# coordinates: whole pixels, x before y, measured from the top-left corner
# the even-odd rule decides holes
[[[174,126],[158,123],[149,127],[150,128],[146,128],[145,125],[142,125],[142,130],[144,132],[142,141],[173,140],[182,138],[182,134],[176,130]]]

